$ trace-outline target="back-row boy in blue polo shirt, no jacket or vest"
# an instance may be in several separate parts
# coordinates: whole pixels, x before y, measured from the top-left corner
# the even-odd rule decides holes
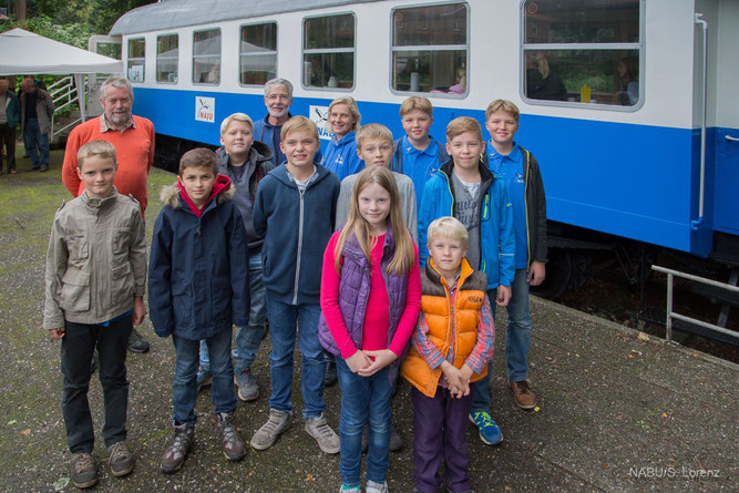
[[[390,170],[413,181],[415,204],[420,207],[425,182],[449,161],[449,154],[444,144],[429,134],[433,105],[428,97],[407,97],[400,105],[400,122],[406,135],[393,143],[396,151]]]

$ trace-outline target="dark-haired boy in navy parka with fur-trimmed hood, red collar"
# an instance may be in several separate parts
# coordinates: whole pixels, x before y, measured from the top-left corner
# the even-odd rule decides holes
[[[211,353],[211,400],[223,451],[229,461],[246,454],[233,422],[236,411],[232,328],[249,320],[249,256],[246,230],[227,176],[206,148],[185,153],[177,183],[162,191],[164,208],[152,238],[148,308],[154,330],[172,336],[176,352],[172,403],[174,433],[162,471],[177,470],[193,444],[199,340]]]

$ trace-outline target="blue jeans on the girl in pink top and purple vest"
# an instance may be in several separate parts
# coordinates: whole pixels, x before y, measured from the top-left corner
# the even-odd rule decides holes
[[[362,429],[369,421],[367,480],[382,483],[390,462],[392,388],[398,378],[398,367],[384,367],[372,377],[360,377],[349,369],[342,358],[336,358],[336,372],[341,388],[341,481],[347,486],[359,486]]]

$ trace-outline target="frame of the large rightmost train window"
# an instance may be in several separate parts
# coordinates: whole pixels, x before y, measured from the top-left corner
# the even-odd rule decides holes
[[[558,107],[569,107],[577,110],[605,110],[613,112],[622,113],[634,113],[639,111],[645,103],[645,66],[646,66],[646,0],[638,0],[639,3],[639,40],[636,42],[604,42],[604,43],[527,43],[526,42],[526,1],[520,0],[519,10],[521,14],[519,16],[520,20],[520,57],[519,57],[519,95],[521,100],[530,105],[537,106],[558,106]],[[540,0],[541,1],[541,0]],[[546,0],[543,0],[546,1]],[[593,103],[593,102],[579,102],[579,101],[556,101],[556,100],[536,100],[526,96],[526,52],[527,51],[578,51],[578,50],[593,50],[593,51],[637,51],[639,57],[639,79],[638,79],[638,94],[639,99],[634,105],[618,105],[618,104],[605,104],[605,103]],[[593,100],[591,100],[593,101]]]

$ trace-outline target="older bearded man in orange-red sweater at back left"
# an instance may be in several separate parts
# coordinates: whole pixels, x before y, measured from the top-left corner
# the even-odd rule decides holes
[[[117,173],[114,185],[122,195],[133,195],[144,217],[148,204],[146,178],[154,162],[154,125],[131,114],[133,88],[126,79],[110,78],[100,88],[103,114],[78,125],[66,141],[62,182],[76,197],[84,189],[78,176],[76,154],[90,141],[103,140],[115,146]],[[129,338],[133,352],[148,351],[148,342],[134,329]]]

